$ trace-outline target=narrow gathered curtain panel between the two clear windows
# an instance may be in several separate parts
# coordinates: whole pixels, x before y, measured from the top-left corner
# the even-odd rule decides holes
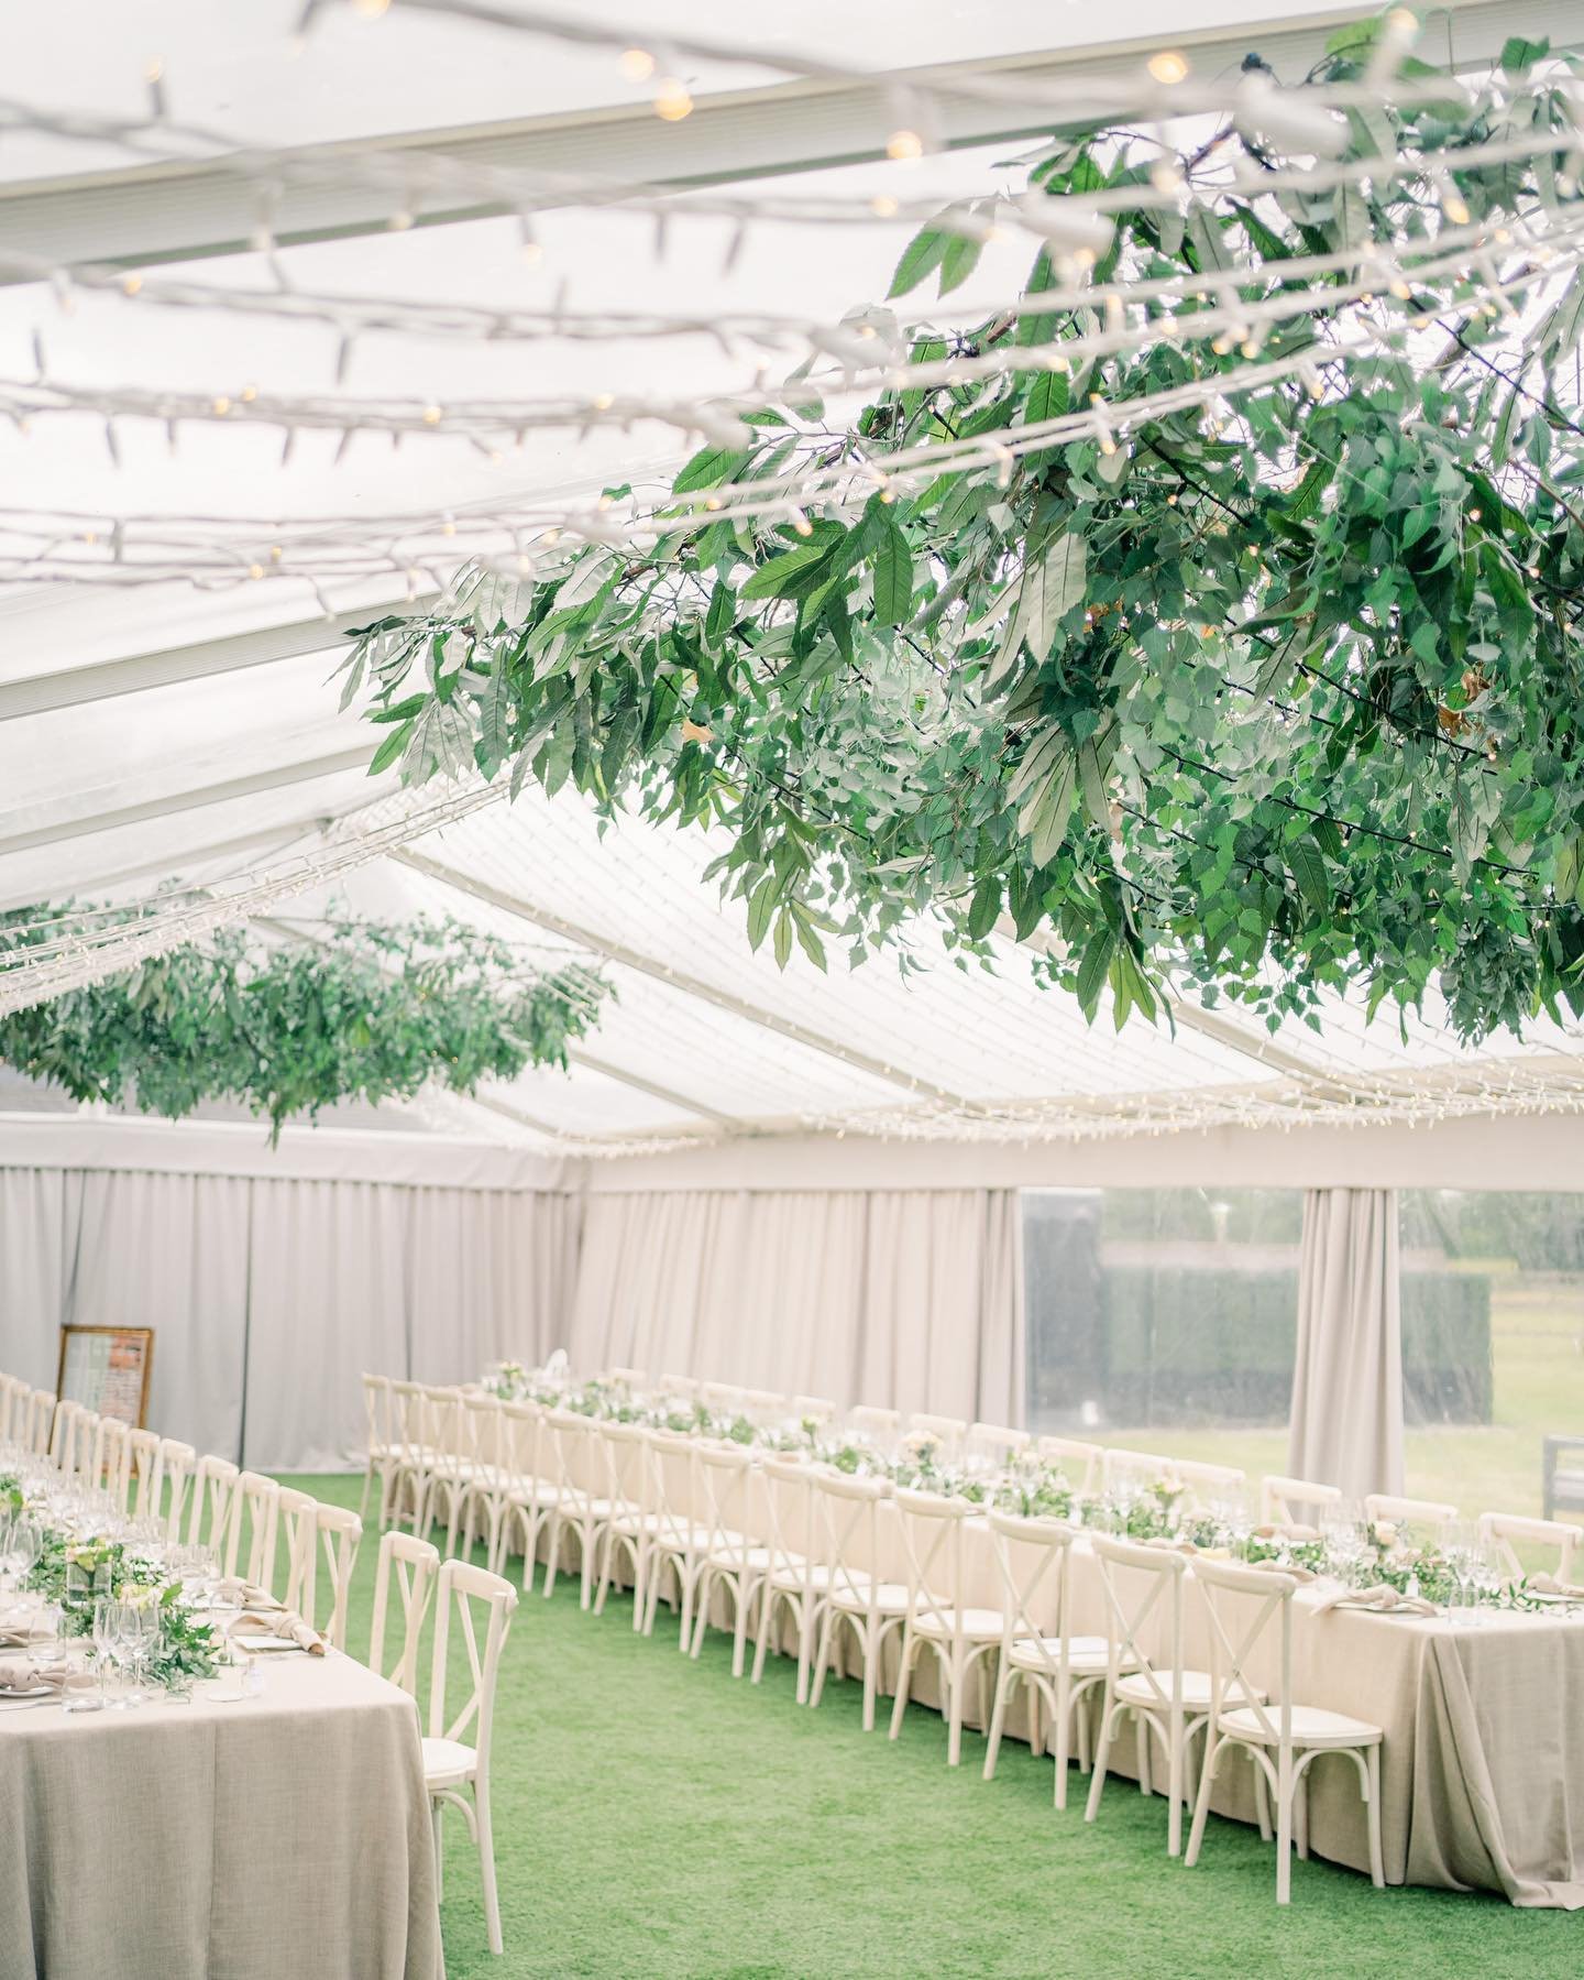
[[[1305,1190],[1293,1477],[1402,1491],[1398,1192]]]

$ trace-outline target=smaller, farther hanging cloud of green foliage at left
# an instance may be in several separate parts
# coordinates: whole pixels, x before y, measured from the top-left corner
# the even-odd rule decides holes
[[[0,960],[46,931],[0,917]],[[182,1119],[242,1101],[271,1133],[337,1101],[412,1099],[426,1081],[473,1093],[527,1065],[566,1065],[608,984],[574,964],[527,968],[457,921],[335,919],[321,939],[265,946],[224,929],[46,1004],[0,1016],[0,1061],[77,1099]]]

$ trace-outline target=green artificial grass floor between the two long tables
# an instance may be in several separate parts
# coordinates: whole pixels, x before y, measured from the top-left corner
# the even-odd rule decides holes
[[[337,1505],[360,1479],[293,1477]],[[372,1519],[348,1647],[368,1651]],[[1245,1980],[1245,1976],[1564,1976],[1584,1972],[1584,1919],[1501,1899],[1374,1891],[1293,1863],[1275,1907],[1273,1853],[1212,1818],[1188,1871],[1166,1857],[1166,1810],[1131,1784],[1083,1822],[1051,1806],[1051,1762],[984,1740],[946,1768],[942,1721],[913,1709],[895,1744],[865,1734],[855,1683],[818,1711],[770,1659],[731,1677],[731,1641],[677,1653],[632,1602],[578,1608],[576,1578],[525,1596],[507,1643],[491,1762],[505,1958],[485,1940],[477,1855],[447,1816],[446,1962],[546,1980]],[[428,1685],[428,1657],[424,1661]]]

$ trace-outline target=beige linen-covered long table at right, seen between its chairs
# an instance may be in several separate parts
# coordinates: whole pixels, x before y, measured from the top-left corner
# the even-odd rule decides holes
[[[590,1453],[592,1455],[592,1453]],[[604,1489],[594,1475],[588,1491]],[[756,1473],[756,1489],[772,1489]],[[784,1493],[778,1527],[784,1544],[818,1548],[802,1531],[798,1493]],[[709,1517],[703,1501],[693,1519]],[[768,1540],[770,1509],[760,1501],[752,1538]],[[875,1578],[907,1580],[907,1550],[895,1507],[881,1503],[877,1560],[859,1560]],[[939,1580],[933,1576],[933,1582]],[[990,1527],[964,1521],[964,1586],[937,1594],[960,1608],[1000,1608],[1002,1584]],[[1075,1635],[1105,1634],[1105,1598],[1089,1542],[1071,1554],[1071,1616]],[[1485,1612],[1469,1618],[1380,1616],[1362,1610],[1321,1612],[1335,1588],[1301,1588],[1293,1604],[1293,1697],[1303,1705],[1350,1713],[1384,1729],[1382,1847],[1388,1883],[1441,1889],[1499,1891],[1513,1905],[1584,1909],[1584,1614]],[[1186,1661],[1210,1665],[1210,1626],[1188,1570]],[[713,1622],[727,1624],[717,1596]],[[1041,1628],[1055,1628],[1055,1610],[1036,1608]],[[756,1624],[756,1616],[754,1616]],[[1146,1651],[1164,1645],[1140,1637]],[[887,1639],[883,1691],[895,1689],[899,1637]],[[786,1632],[782,1647],[790,1649]],[[1275,1651],[1255,1681],[1277,1689]],[[937,1703],[935,1659],[921,1649],[913,1697]],[[966,1721],[978,1725],[974,1687]],[[1008,1734],[1028,1736],[1022,1709],[1008,1717]],[[1111,1766],[1129,1772],[1133,1740],[1113,1746]],[[990,1792],[990,1790],[986,1790]],[[1239,1754],[1220,1768],[1214,1810],[1255,1820],[1253,1770]],[[1105,1820],[1101,1816],[1101,1820]],[[1206,1849],[1214,1851],[1214,1837]],[[1358,1774],[1342,1754],[1323,1754],[1309,1770],[1309,1849],[1368,1873],[1364,1806]]]

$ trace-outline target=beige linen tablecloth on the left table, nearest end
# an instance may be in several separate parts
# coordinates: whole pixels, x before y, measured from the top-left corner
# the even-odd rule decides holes
[[[0,1980],[432,1980],[418,1713],[350,1657],[265,1693],[0,1705]]]

